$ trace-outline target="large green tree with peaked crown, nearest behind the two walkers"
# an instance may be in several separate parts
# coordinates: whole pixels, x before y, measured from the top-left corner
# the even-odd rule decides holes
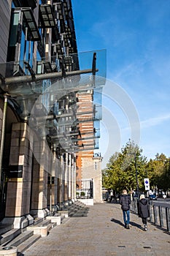
[[[136,189],[136,174],[139,189],[144,189],[147,158],[142,156],[142,149],[131,140],[125,144],[120,153],[110,157],[107,168],[103,172],[104,187],[115,190],[123,188]]]

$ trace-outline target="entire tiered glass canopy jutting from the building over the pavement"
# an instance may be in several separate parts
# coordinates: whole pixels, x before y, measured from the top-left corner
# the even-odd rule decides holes
[[[9,95],[8,102],[20,118],[27,120],[40,138],[46,138],[53,148],[60,147],[68,152],[92,150],[98,148],[98,121],[101,120],[101,97],[98,95],[106,78],[106,51],[71,54],[65,58],[64,76],[62,67],[58,66],[58,61],[55,62],[55,56],[49,60],[42,59],[46,70],[50,67],[43,74],[26,61],[0,64],[1,94]],[[82,69],[72,67],[73,71],[68,71],[68,61],[71,60],[72,65],[76,59],[79,59]],[[12,76],[16,67],[22,67],[22,76]],[[53,69],[58,72],[50,72]],[[98,99],[88,112],[77,112],[76,94],[80,91],[92,91],[93,98]],[[89,116],[83,119],[81,115]],[[79,125],[82,122],[94,124],[93,131],[86,132],[85,137],[80,135]]]

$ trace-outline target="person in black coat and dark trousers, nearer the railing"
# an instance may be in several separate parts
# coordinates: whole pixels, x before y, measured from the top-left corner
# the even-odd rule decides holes
[[[147,218],[150,216],[148,200],[144,195],[140,196],[139,200],[139,217],[142,218],[142,223],[144,224],[144,230],[147,231]]]

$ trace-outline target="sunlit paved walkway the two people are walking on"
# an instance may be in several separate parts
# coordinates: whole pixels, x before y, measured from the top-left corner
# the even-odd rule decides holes
[[[27,249],[25,256],[170,255],[170,233],[130,215],[130,229],[123,225],[119,203],[88,206],[87,217],[70,217]]]

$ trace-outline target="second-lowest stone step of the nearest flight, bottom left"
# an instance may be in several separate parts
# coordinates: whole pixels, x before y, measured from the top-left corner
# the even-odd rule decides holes
[[[22,244],[24,241],[26,241],[31,236],[33,236],[33,231],[26,230],[23,233],[20,233],[20,235],[16,236],[14,239],[12,239],[12,241],[9,241],[6,244],[3,244],[3,246],[18,247],[19,244]]]

